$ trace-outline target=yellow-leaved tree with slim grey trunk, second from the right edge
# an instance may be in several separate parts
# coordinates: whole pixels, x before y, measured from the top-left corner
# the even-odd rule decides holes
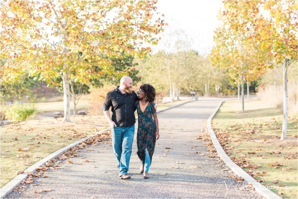
[[[241,76],[242,112],[244,112],[244,75],[254,70],[264,70],[265,53],[258,49],[255,20],[263,21],[257,7],[258,1],[224,1],[224,11],[219,15],[222,24],[215,30],[212,60],[232,78]]]

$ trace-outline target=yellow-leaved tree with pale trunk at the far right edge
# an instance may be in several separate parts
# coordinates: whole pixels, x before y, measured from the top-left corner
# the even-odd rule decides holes
[[[288,120],[288,67],[297,60],[297,1],[264,1],[265,10],[270,10],[270,18],[260,26],[260,46],[273,54],[274,63],[282,64],[283,68],[283,127],[281,140],[287,136]]]

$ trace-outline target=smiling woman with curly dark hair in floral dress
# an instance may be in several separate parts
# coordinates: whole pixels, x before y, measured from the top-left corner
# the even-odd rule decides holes
[[[136,102],[139,124],[136,137],[138,151],[136,153],[142,163],[140,172],[144,173],[144,179],[148,179],[155,142],[159,139],[158,119],[154,109],[156,93],[153,86],[142,84],[137,94],[140,101]]]

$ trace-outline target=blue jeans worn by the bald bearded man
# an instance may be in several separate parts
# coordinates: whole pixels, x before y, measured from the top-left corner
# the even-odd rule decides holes
[[[131,127],[114,127],[112,130],[112,144],[117,160],[119,176],[127,174],[134,141],[134,125]]]

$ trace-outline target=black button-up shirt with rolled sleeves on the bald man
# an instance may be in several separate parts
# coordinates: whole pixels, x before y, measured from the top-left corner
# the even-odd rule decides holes
[[[118,86],[108,92],[103,103],[103,111],[108,111],[112,107],[112,121],[117,127],[131,127],[136,123],[134,116],[136,100],[139,98],[134,91],[131,94],[122,94]]]

